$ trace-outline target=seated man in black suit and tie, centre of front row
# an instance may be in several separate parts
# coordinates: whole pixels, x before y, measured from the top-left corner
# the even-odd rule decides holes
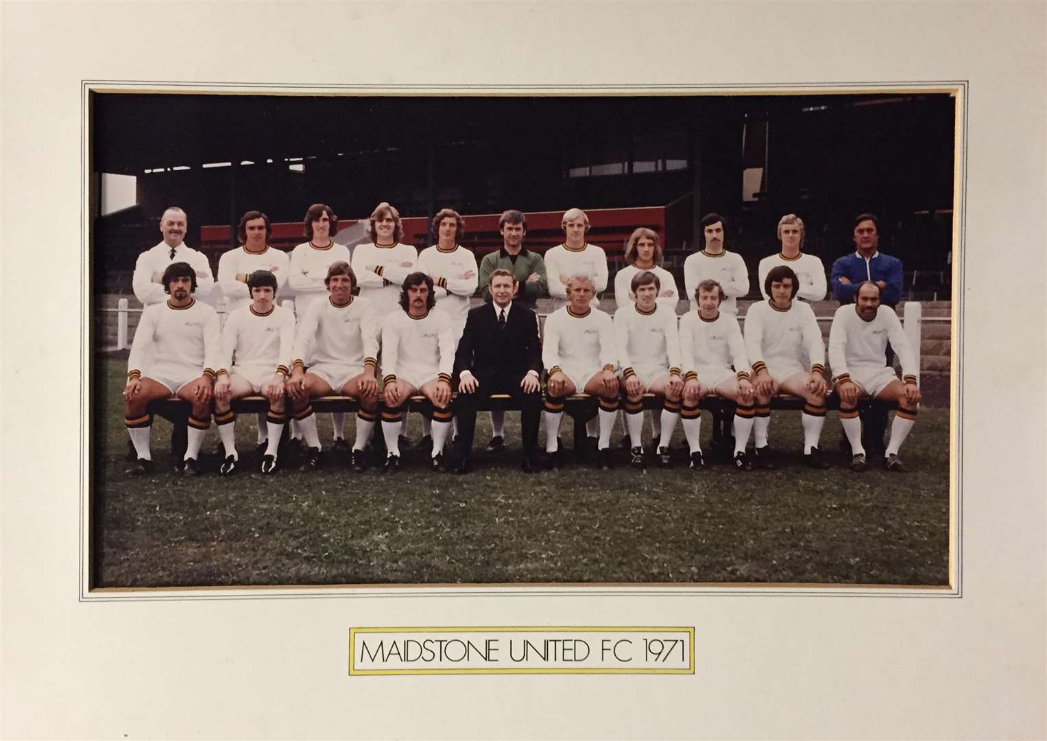
[[[538,471],[538,420],[541,418],[541,342],[538,317],[519,302],[513,303],[516,279],[496,269],[489,279],[491,303],[469,311],[454,355],[453,377],[459,436],[454,473],[472,468],[472,438],[476,407],[491,394],[510,394],[520,409],[526,473]]]

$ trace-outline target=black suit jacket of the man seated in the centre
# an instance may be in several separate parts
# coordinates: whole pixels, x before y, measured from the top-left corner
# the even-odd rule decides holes
[[[477,377],[491,374],[522,376],[529,370],[541,375],[538,315],[514,301],[503,334],[493,303],[470,309],[454,353],[455,386],[459,375],[466,369]]]

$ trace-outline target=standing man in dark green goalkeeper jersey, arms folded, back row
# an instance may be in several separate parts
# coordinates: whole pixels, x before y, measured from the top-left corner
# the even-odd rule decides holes
[[[519,211],[509,209],[498,219],[498,232],[502,234],[502,247],[485,255],[480,261],[481,296],[484,301],[491,303],[491,274],[497,269],[509,270],[516,281],[513,303],[536,311],[538,299],[548,293],[549,279],[541,255],[524,246],[527,217]],[[505,412],[491,412],[493,434],[487,445],[488,453],[499,453],[506,449],[505,420]]]

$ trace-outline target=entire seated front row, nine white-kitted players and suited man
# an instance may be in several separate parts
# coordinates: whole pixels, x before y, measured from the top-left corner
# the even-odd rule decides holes
[[[151,470],[148,402],[172,393],[192,405],[183,471],[198,473],[197,455],[210,423],[213,383],[215,417],[226,451],[222,473],[232,473],[238,461],[229,401],[252,393],[269,399],[269,442],[262,471],[275,470],[277,442],[286,420],[285,392],[309,445],[309,467],[318,464],[320,452],[310,399],[340,392],[360,400],[353,466],[362,471],[366,465],[362,452],[379,411],[375,376],[378,343],[372,302],[353,297],[355,281],[349,264],[331,265],[325,278],[328,300],[314,302],[295,332],[290,313],[273,304],[275,277],[258,270],[248,277],[252,302],[230,314],[220,340],[214,309],[192,298],[196,286],[192,266],[169,266],[162,284],[171,298],[143,312],[129,358],[126,419],[139,458],[133,473]],[[823,374],[825,349],[810,307],[795,301],[799,281],[789,267],[777,266],[768,273],[765,289],[771,299],[751,308],[744,337],[737,320],[720,311],[722,289],[715,281],[699,284],[695,290],[698,310],[685,315],[678,329],[672,311],[656,302],[661,283],[651,271],[632,278],[630,293],[636,303],[619,309],[614,322],[608,314],[593,310],[594,285],[587,276],[567,277],[566,284],[570,303],[547,320],[539,363],[537,317],[526,306],[513,305],[519,284],[508,270],[492,274],[489,290],[493,302],[468,312],[456,351],[453,322],[435,307],[432,279],[418,271],[405,277],[400,310],[386,318],[381,330],[381,414],[387,450],[384,471],[399,467],[401,409],[415,393],[426,396],[432,406],[432,467],[447,470],[444,446],[455,376],[458,408],[463,416],[456,471],[467,473],[471,467],[477,393],[507,392],[516,396],[524,414],[524,468],[537,470],[542,366],[549,369],[545,433],[550,467],[559,465],[557,434],[563,400],[579,391],[599,397],[598,450],[603,467],[610,464],[609,439],[620,395],[625,400],[632,463],[643,465],[639,413],[645,392],[664,398],[659,445],[662,463],[669,462],[668,441],[682,416],[691,466],[705,466],[698,443],[698,401],[715,392],[737,404],[735,467],[752,467],[745,454],[750,430],[755,432],[757,461],[770,465],[770,399],[780,391],[805,400],[804,454],[810,465],[827,466],[818,454],[828,392]],[[863,283],[857,290],[859,303],[842,306],[830,331],[841,418],[852,445],[851,467],[855,471],[866,467],[856,419],[859,397],[867,394],[898,404],[885,456],[887,467],[895,471],[904,470],[897,452],[919,401],[915,375],[906,373],[901,383],[884,365],[888,340],[901,357],[904,372],[912,370],[913,361],[897,317],[889,308],[881,309],[879,293],[875,283]],[[314,348],[313,362],[307,370],[304,357],[310,347]],[[151,349],[151,367],[143,372],[143,359]],[[292,356],[289,373],[284,362]],[[804,356],[809,358],[807,367]],[[620,374],[616,374],[616,367],[621,368]]]

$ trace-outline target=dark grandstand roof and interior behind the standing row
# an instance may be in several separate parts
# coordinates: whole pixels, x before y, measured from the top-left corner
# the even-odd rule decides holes
[[[949,288],[949,93],[92,92],[90,115],[98,292],[129,286],[135,255],[157,240],[156,219],[171,203],[188,213],[186,241],[198,244],[205,224],[235,224],[248,209],[298,221],[317,200],[349,218],[382,200],[405,217],[444,206],[471,215],[662,205],[669,253],[693,249],[697,219],[716,211],[729,220],[729,248],[754,263],[777,248],[784,213],[804,219],[805,250],[831,261],[852,248],[854,215],[872,211],[881,246],[904,260],[908,280],[920,270],[921,281],[934,277],[930,287]],[[758,184],[743,197],[747,168],[758,171]],[[137,205],[101,216],[102,173],[135,175]]]

